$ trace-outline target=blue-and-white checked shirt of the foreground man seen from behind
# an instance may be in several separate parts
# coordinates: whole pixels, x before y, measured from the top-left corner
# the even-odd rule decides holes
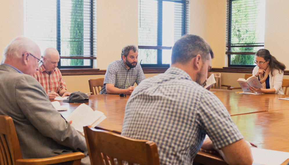
[[[179,68],[142,81],[127,101],[122,135],[156,142],[161,165],[191,165],[206,134],[215,148],[243,138],[221,101]]]

